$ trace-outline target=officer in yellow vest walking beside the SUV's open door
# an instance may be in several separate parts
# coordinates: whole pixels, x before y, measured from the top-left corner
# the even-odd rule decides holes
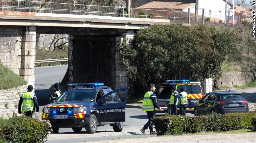
[[[151,118],[156,117],[155,108],[157,108],[158,110],[163,111],[163,109],[161,109],[159,107],[159,105],[157,104],[157,96],[154,93],[155,90],[156,90],[155,86],[156,85],[151,84],[150,87],[149,87],[150,90],[148,92],[146,92],[145,95],[144,95],[142,111],[147,112],[148,122],[144,125],[144,127],[142,129],[140,129],[140,131],[142,132],[143,135],[146,135],[145,130],[148,129],[148,128],[150,129],[150,135],[156,134],[153,131],[153,125],[152,125]]]

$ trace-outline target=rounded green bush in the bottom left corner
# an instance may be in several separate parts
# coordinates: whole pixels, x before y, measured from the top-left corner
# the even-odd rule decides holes
[[[44,142],[51,132],[51,124],[35,118],[13,117],[0,119],[1,138],[9,142]]]

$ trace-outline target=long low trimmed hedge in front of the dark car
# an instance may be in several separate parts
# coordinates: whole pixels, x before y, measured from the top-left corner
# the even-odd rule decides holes
[[[159,116],[153,119],[158,135],[180,135],[202,131],[256,130],[256,112],[209,114],[206,116]]]

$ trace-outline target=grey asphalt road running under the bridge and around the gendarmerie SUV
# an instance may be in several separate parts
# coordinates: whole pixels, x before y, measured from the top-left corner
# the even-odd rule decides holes
[[[47,66],[35,68],[35,93],[39,103],[40,112],[37,113],[37,118],[41,119],[41,111],[44,105],[49,102],[49,88],[55,83],[60,82],[64,77],[68,65],[61,66]],[[146,112],[141,109],[126,108],[126,121],[124,122],[123,131],[120,133],[114,132],[113,128],[105,125],[97,128],[96,134],[87,134],[85,128],[80,134],[75,134],[72,128],[60,128],[58,134],[49,136],[47,142],[83,142],[83,141],[97,141],[113,138],[127,138],[141,136],[140,129],[147,122]],[[164,114],[158,113],[157,116]],[[193,114],[187,114],[193,116]],[[146,132],[149,134],[149,130]],[[148,135],[150,136],[150,135]],[[74,138],[77,138],[74,140]]]

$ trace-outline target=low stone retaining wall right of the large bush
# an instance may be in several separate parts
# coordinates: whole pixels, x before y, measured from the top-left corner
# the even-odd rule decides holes
[[[222,72],[219,77],[218,87],[233,87],[244,85],[256,79],[255,71]]]

